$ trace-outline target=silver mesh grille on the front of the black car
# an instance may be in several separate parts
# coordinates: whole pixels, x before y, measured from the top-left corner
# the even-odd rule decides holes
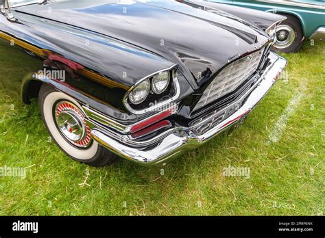
[[[226,68],[213,79],[210,85],[208,85],[208,88],[204,91],[194,110],[200,109],[218,98],[221,98],[221,96],[236,90],[241,83],[256,72],[261,62],[263,51],[264,49],[261,49],[261,51],[252,53],[226,66]]]

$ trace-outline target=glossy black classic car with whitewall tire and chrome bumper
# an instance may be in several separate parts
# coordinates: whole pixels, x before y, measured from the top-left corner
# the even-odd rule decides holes
[[[285,17],[267,12],[202,1],[0,4],[0,38],[43,64],[23,79],[23,103],[38,98],[56,144],[91,166],[117,156],[163,165],[196,148],[241,122],[287,64],[270,51]]]

